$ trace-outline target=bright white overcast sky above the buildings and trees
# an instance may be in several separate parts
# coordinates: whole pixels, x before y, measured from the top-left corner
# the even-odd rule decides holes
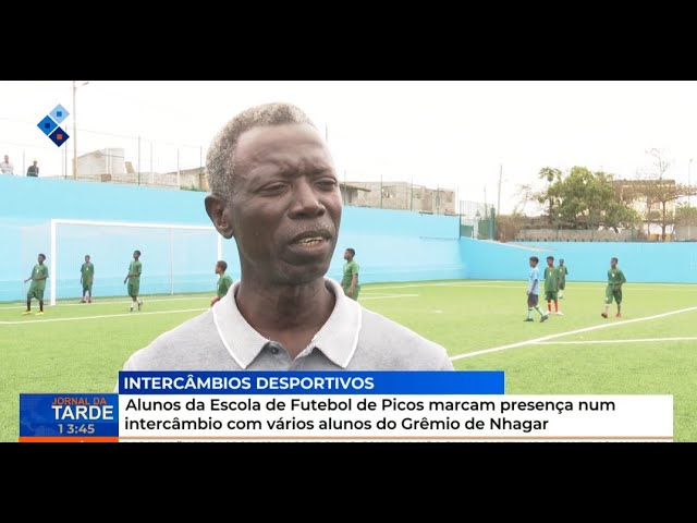
[[[695,82],[84,82],[76,111],[72,81],[0,83],[0,155],[15,172],[33,159],[41,175],[72,172],[72,138],[59,149],[36,126],[57,104],[70,135],[77,114],[78,155],[123,147],[142,171],[167,172],[199,166],[239,111],[286,101],[326,133],[340,178],[413,180],[496,205],[502,170],[503,212],[543,167],[634,178],[650,148],[672,162],[667,177],[697,182]]]

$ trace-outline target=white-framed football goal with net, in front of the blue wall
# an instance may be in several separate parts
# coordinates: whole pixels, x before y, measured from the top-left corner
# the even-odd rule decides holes
[[[125,295],[135,250],[143,253],[143,294],[212,291],[212,268],[223,257],[222,236],[211,226],[51,219],[50,235],[51,305],[82,296],[86,254],[95,265],[95,296]]]

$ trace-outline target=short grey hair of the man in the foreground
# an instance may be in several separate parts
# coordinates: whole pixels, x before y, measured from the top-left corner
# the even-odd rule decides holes
[[[229,196],[235,171],[235,151],[240,136],[254,127],[306,123],[317,129],[307,114],[291,104],[266,104],[242,111],[213,138],[206,155],[206,177],[210,192]]]

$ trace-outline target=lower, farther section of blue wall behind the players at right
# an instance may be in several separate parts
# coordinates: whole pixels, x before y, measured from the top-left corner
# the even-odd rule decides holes
[[[519,242],[505,243],[461,240],[461,257],[467,278],[525,280],[528,258],[564,258],[571,281],[606,281],[610,258],[631,282],[697,283],[697,243],[631,242]]]

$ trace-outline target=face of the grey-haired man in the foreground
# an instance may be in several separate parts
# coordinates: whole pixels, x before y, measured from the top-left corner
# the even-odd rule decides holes
[[[329,269],[341,193],[329,149],[310,125],[255,127],[240,136],[223,217],[247,273],[301,284]]]

